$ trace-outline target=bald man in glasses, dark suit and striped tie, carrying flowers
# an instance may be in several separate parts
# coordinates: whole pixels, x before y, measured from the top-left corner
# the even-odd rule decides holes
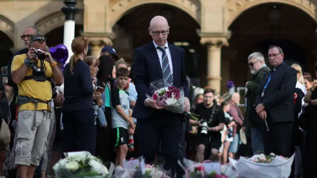
[[[178,160],[179,142],[185,134],[183,132],[185,116],[165,110],[146,95],[150,95],[151,82],[164,79],[165,83],[184,89],[184,109],[186,112],[190,110],[185,51],[167,42],[169,26],[164,17],[154,17],[148,31],[153,41],[134,51],[133,75],[138,98],[132,117],[138,121],[140,155],[151,164],[161,147],[160,153],[165,161],[163,167],[165,170],[171,170],[173,178]]]

